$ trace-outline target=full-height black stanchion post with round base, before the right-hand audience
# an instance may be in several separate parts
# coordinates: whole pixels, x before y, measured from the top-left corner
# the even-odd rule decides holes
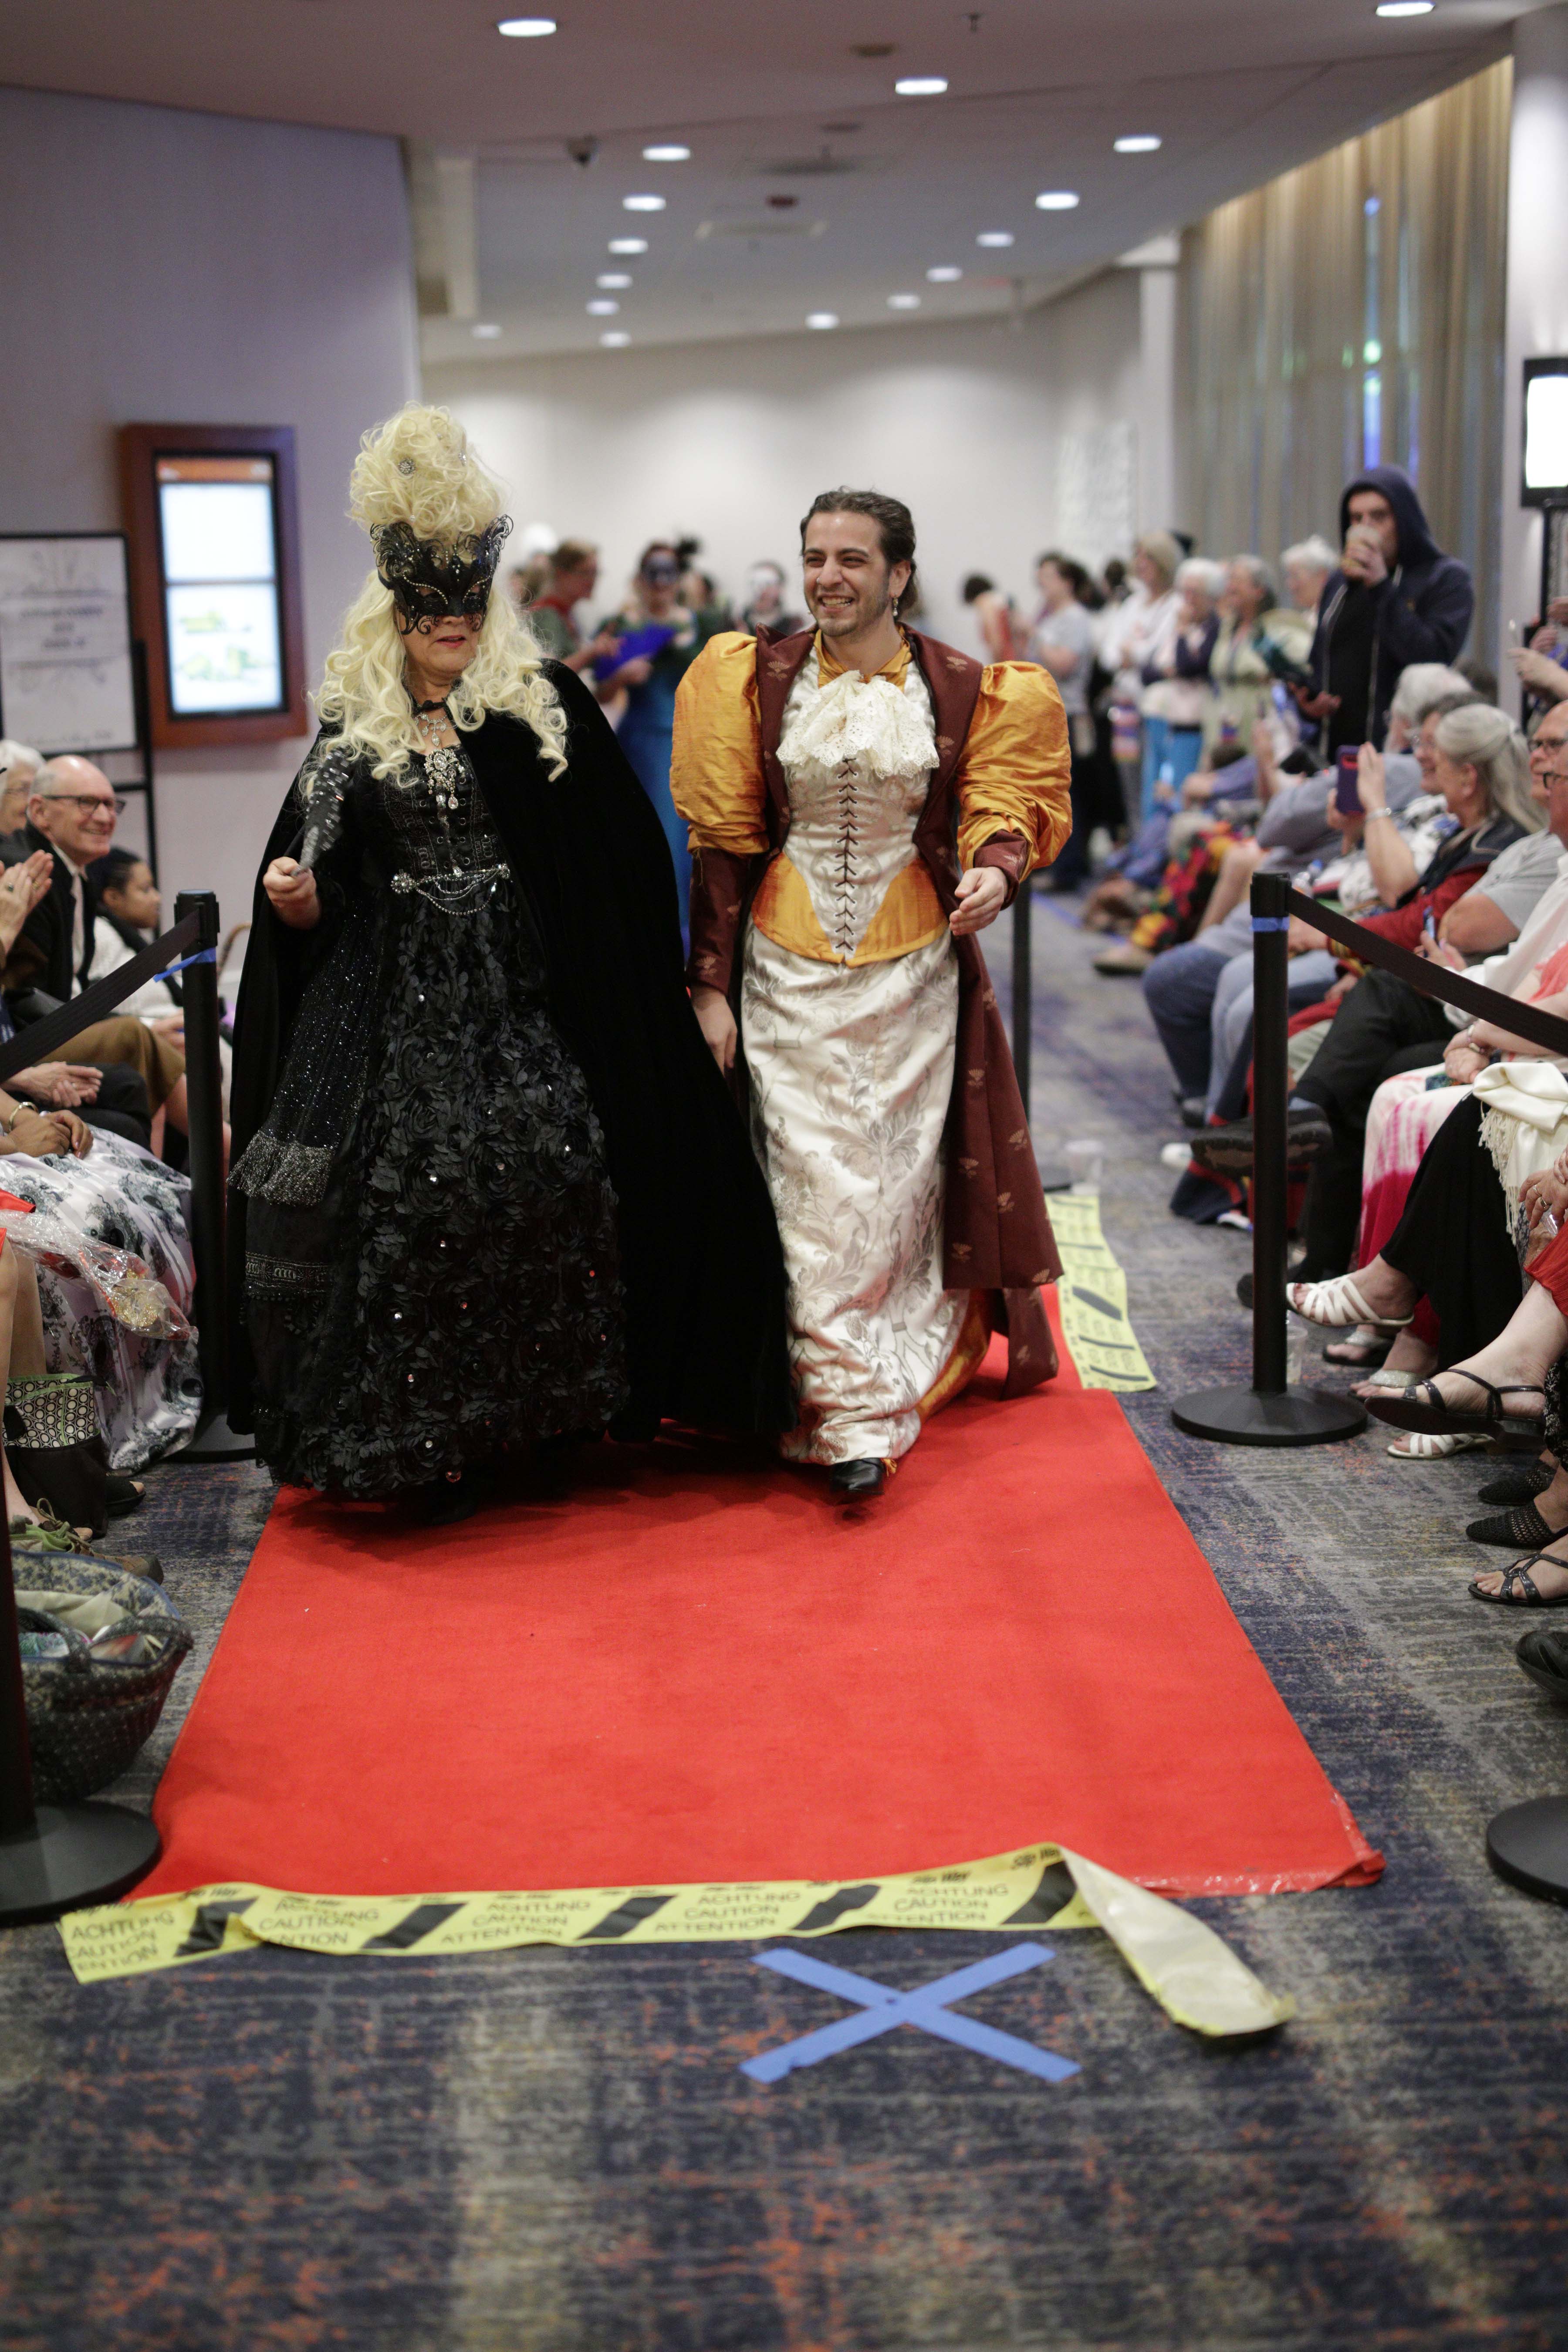
[[[1253,1381],[1199,1388],[1171,1406],[1187,1437],[1227,1446],[1321,1446],[1366,1428],[1356,1397],[1293,1388],[1286,1378],[1288,934],[1286,875],[1253,875]]]

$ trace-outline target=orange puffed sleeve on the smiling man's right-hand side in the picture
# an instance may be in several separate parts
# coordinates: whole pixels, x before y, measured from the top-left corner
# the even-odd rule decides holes
[[[994,661],[959,760],[959,861],[999,833],[1030,847],[1030,868],[1048,866],[1072,833],[1067,713],[1048,670]]]

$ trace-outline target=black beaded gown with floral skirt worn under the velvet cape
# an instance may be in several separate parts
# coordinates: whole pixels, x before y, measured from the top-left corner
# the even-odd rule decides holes
[[[628,1402],[616,1195],[463,750],[343,779],[247,1197],[256,1439],[390,1496]]]

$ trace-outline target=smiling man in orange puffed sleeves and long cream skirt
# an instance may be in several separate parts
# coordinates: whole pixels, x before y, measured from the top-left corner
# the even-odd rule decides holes
[[[788,637],[715,637],[675,703],[691,826],[691,997],[752,1138],[790,1272],[799,1425],[842,1501],[976,1371],[1056,1371],[1058,1272],[1030,1127],[976,934],[1070,828],[1046,670],[980,668],[898,621],[907,506],[830,489],[802,522]]]

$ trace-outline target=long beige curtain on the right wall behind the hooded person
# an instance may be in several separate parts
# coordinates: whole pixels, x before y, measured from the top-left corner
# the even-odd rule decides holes
[[[1211,555],[1338,543],[1340,492],[1403,466],[1476,576],[1495,661],[1512,64],[1182,238],[1185,520]]]

